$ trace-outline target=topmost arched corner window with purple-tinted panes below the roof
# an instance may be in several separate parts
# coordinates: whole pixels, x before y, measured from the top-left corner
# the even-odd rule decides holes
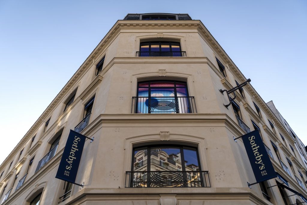
[[[140,57],[176,57],[182,56],[180,43],[153,41],[140,43]]]

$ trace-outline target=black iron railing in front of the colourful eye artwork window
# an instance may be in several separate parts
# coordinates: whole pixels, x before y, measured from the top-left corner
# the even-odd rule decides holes
[[[197,113],[194,97],[132,97],[131,113]]]

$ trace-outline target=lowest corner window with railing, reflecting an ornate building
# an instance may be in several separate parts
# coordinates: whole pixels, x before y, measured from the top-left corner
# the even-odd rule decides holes
[[[129,187],[210,187],[201,171],[198,150],[181,145],[133,149]]]

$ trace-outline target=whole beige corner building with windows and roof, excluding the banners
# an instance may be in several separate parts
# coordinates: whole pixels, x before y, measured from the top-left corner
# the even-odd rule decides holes
[[[200,20],[128,14],[1,164],[2,204],[304,204],[305,147],[274,104],[247,84],[224,106],[219,90],[246,80]],[[76,178],[84,187],[55,178],[71,129],[94,139]],[[278,178],[248,187],[234,137],[255,129]]]

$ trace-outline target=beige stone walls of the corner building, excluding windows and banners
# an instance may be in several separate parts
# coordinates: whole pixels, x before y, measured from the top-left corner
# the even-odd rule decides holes
[[[143,28],[144,25],[131,28],[126,25],[129,23],[119,21],[113,27],[0,166],[0,173],[4,171],[0,178],[2,193],[5,185],[6,191],[13,186],[18,171],[17,181],[26,174],[29,160],[35,156],[24,185],[17,191],[13,187],[5,203],[27,204],[25,200],[29,201],[40,190],[44,190],[41,204],[58,203],[64,183],[54,176],[69,130],[83,119],[84,105],[95,95],[90,123],[82,131],[82,134],[94,137],[94,141],[90,143],[90,140],[86,140],[76,178],[76,182],[84,182],[84,188],[73,185],[71,197],[61,204],[271,204],[263,198],[259,185],[247,187],[247,181],[253,183],[255,178],[242,140],[233,140],[234,136],[242,136],[244,131],[237,124],[232,107],[227,109],[223,105],[229,103],[226,94],[219,91],[236,86],[235,80],[239,83],[245,81],[242,73],[216,41],[210,40],[211,34],[199,21],[185,21],[185,25],[181,23],[176,27],[161,27],[156,23],[152,28]],[[135,57],[140,41],[144,39],[180,41],[187,57]],[[95,76],[95,66],[103,56],[103,71]],[[216,57],[225,66],[226,78],[220,73]],[[131,113],[137,83],[158,79],[186,81],[189,96],[195,97],[197,113]],[[64,103],[76,88],[74,102],[63,113]],[[238,97],[235,101],[240,106],[245,124],[253,130],[250,119],[254,120],[261,129],[264,143],[272,152],[270,140],[276,143],[280,147],[282,161],[286,163],[286,156],[293,157],[292,151],[287,152],[288,148],[283,147],[278,133],[283,133],[287,143],[293,147],[294,140],[251,85],[244,87],[245,98],[236,92]],[[253,102],[261,108],[262,118],[257,117]],[[49,118],[49,125],[43,132]],[[277,134],[271,130],[268,118],[275,123]],[[38,162],[48,153],[56,133],[62,129],[56,155],[34,174]],[[161,134],[165,132],[166,138]],[[161,140],[165,140],[166,144],[194,144],[198,148],[202,170],[209,171],[211,187],[125,188],[126,171],[131,170],[133,147],[144,142],[155,144]],[[17,160],[22,148],[23,154]],[[294,173],[290,178],[280,167],[274,152],[273,156],[275,170],[289,180],[292,188],[306,195],[293,178]],[[14,163],[9,169],[13,159]],[[295,169],[306,168],[302,158],[294,159]],[[268,184],[276,185],[275,179],[269,180]],[[283,203],[277,186],[270,188],[269,192],[273,204]],[[289,192],[288,195],[292,194]],[[294,203],[295,196],[291,200]]]

